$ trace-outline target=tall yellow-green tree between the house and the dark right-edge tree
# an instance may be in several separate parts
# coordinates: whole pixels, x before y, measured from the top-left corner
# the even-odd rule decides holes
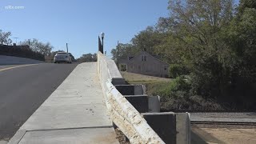
[[[223,30],[234,18],[233,1],[170,0],[168,9],[167,40],[180,55],[178,62],[190,66],[192,94],[221,97],[230,81],[226,63],[231,63],[232,51],[223,40]]]

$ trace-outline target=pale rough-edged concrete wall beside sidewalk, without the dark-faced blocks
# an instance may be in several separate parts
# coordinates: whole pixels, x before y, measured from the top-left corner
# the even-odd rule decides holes
[[[112,82],[124,82],[114,61],[98,52],[98,74],[111,120],[129,138],[131,143],[165,143],[114,87]]]

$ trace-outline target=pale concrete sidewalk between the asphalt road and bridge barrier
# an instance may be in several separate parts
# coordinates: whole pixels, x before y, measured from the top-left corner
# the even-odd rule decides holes
[[[9,143],[119,143],[106,115],[97,63],[82,63]]]

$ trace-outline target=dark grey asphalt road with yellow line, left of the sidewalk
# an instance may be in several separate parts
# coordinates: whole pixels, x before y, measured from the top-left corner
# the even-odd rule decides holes
[[[11,138],[77,64],[0,67],[0,140]]]

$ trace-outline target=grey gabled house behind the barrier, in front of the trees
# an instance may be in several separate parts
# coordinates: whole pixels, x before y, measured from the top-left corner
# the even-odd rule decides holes
[[[168,63],[162,62],[146,51],[142,51],[135,57],[121,59],[119,62],[119,68],[122,71],[156,77],[168,77],[168,67]]]

